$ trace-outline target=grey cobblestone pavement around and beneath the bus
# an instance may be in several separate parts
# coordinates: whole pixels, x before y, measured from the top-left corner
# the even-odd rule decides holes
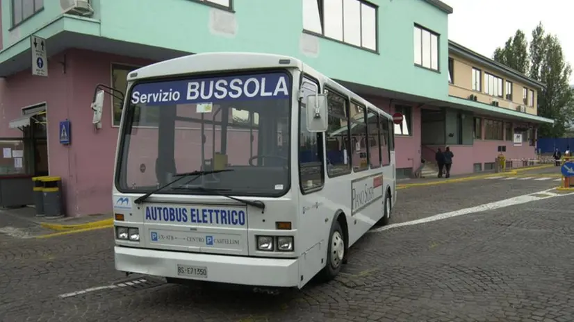
[[[393,221],[555,186],[525,181],[400,190]],[[0,234],[0,321],[574,321],[572,216],[574,196],[561,196],[369,233],[336,280],[279,295],[126,278],[112,230]],[[58,297],[93,287],[104,288]]]

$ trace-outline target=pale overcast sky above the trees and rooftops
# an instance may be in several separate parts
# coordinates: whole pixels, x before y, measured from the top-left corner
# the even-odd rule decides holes
[[[572,33],[574,1],[568,0],[443,0],[454,10],[448,18],[448,37],[492,58],[516,29],[530,42],[532,30],[542,22],[547,33],[558,36],[566,61],[574,67]],[[571,77],[574,83],[574,77]]]

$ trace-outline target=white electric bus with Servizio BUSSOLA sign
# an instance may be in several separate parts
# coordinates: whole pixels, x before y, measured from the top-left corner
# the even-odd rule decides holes
[[[334,278],[349,247],[388,223],[391,116],[300,60],[200,53],[127,81],[118,271],[302,288],[318,273]]]

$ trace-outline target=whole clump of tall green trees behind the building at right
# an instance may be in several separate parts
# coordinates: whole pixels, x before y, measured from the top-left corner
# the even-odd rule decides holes
[[[559,39],[547,35],[539,23],[532,31],[530,46],[524,33],[518,30],[504,47],[494,51],[493,59],[546,85],[538,93],[538,115],[554,119],[555,124],[541,126],[539,137],[564,135],[574,119],[574,91],[568,85],[572,69],[564,60]]]

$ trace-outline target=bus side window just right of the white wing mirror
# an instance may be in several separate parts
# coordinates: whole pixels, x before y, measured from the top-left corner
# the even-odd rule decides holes
[[[328,112],[327,133],[327,174],[340,176],[351,172],[350,153],[351,136],[349,131],[349,108],[347,99],[336,92],[325,90],[327,93]]]

